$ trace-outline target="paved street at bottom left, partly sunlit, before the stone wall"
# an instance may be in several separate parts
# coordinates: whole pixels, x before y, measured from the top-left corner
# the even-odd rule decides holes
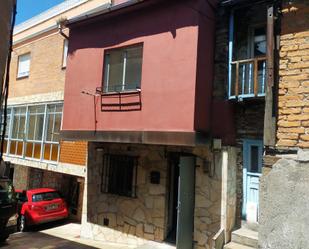
[[[173,246],[149,242],[139,247],[123,244],[110,244],[80,238],[80,224],[56,222],[44,224],[24,233],[15,233],[6,243],[0,244],[4,249],[174,249]]]

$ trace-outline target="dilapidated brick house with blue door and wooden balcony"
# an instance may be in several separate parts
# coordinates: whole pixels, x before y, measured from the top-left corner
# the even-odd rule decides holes
[[[308,248],[307,13],[304,1],[218,8],[213,98],[232,105],[239,149],[225,248]]]

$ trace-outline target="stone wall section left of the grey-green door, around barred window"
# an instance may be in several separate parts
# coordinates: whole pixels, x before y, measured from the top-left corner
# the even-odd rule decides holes
[[[137,198],[101,193],[102,160],[107,151],[140,156],[137,167]],[[145,147],[137,149],[135,146],[90,143],[88,154],[88,203],[87,214],[84,214],[82,222],[83,226],[85,221],[89,224],[85,224],[82,235],[96,240],[134,245],[142,244],[144,239],[162,241],[166,224],[167,177],[163,147],[151,147],[148,150]],[[160,172],[159,185],[149,182],[152,169]],[[104,219],[109,220],[108,226],[104,226]]]

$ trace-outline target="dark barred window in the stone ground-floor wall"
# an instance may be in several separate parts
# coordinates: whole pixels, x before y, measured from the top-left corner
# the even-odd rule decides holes
[[[105,154],[101,191],[136,197],[137,157]]]

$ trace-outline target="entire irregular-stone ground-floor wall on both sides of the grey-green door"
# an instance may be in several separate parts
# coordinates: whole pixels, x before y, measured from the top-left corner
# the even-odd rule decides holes
[[[104,153],[121,152],[139,155],[137,198],[101,193],[101,170]],[[125,244],[143,244],[145,240],[162,242],[167,233],[169,152],[183,152],[212,161],[208,147],[185,148],[152,145],[89,143],[88,177],[85,184],[87,204],[82,216],[83,237]],[[216,156],[215,156],[216,157]],[[220,157],[220,156],[219,156]],[[199,160],[201,161],[201,160]],[[215,172],[209,177],[202,165],[196,165],[194,248],[211,248],[212,238],[221,226],[221,165],[216,159]],[[160,171],[160,185],[149,182],[151,170]],[[103,225],[104,218],[109,226]]]

